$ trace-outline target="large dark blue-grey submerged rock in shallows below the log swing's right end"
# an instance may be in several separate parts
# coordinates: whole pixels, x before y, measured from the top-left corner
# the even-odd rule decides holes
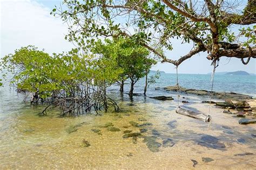
[[[218,138],[207,134],[203,135],[201,139],[197,141],[197,144],[208,148],[219,149],[222,151],[225,150],[224,148],[226,147],[223,143],[219,141]]]

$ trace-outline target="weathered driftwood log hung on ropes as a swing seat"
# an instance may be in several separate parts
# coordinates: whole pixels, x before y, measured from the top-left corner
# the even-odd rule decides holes
[[[201,113],[199,111],[192,111],[188,108],[182,108],[180,106],[176,108],[176,113],[186,115],[188,117],[198,119],[198,120],[202,120],[202,121],[205,121],[205,122],[210,122],[211,119],[212,119],[210,115]]]

